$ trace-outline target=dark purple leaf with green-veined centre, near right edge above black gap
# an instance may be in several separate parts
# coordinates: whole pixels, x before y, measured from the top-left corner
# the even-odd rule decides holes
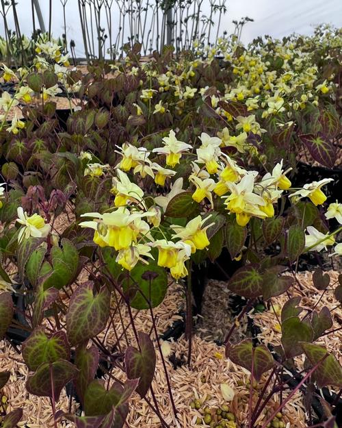
[[[323,134],[302,134],[299,136],[314,160],[327,168],[333,168],[337,152],[334,144]]]

